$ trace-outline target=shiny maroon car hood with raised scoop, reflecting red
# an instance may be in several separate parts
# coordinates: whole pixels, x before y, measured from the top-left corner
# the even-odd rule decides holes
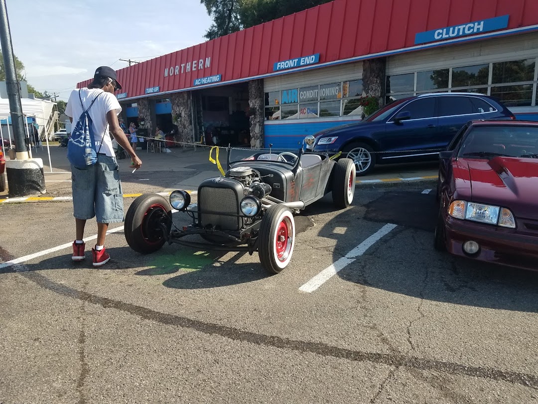
[[[538,159],[459,158],[452,169],[458,198],[504,206],[518,218],[538,220]]]

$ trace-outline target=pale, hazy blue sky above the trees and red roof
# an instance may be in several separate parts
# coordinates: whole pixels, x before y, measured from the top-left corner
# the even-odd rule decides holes
[[[6,0],[26,80],[67,101],[76,83],[118,59],[148,60],[200,44],[211,25],[200,0]]]

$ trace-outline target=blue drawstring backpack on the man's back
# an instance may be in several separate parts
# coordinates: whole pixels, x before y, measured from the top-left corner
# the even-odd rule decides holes
[[[71,131],[71,137],[69,138],[69,143],[67,143],[67,158],[69,162],[79,170],[87,170],[90,166],[97,163],[97,153],[101,151],[101,146],[103,145],[104,134],[107,133],[105,129],[103,133],[103,139],[101,140],[101,146],[99,151],[95,150],[95,136],[93,125],[91,122],[90,114],[88,113],[91,106],[94,105],[95,100],[97,100],[98,94],[93,101],[91,101],[88,109],[84,110],[84,105],[82,104],[82,98],[80,96],[79,90],[79,99],[80,105],[82,106],[82,114],[79,117],[79,120],[76,122],[75,127]],[[108,128],[108,126],[107,126]]]

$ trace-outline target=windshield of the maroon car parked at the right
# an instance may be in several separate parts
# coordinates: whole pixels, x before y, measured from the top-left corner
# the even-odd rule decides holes
[[[458,157],[538,158],[538,126],[477,126],[467,134]]]

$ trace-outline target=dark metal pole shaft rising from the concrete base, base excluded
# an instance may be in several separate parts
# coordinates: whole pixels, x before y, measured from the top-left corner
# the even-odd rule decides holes
[[[5,85],[8,90],[13,137],[15,137],[15,151],[18,159],[27,160],[29,156],[26,143],[24,142],[23,107],[20,103],[19,82],[17,80],[8,10],[5,0],[0,0],[0,44],[4,57]]]

